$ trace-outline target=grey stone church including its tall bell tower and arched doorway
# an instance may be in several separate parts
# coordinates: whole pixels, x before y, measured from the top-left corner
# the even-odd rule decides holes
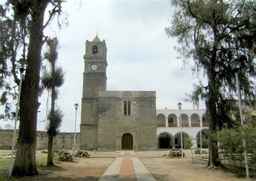
[[[106,91],[106,43],[86,40],[80,149],[156,150],[156,92]]]

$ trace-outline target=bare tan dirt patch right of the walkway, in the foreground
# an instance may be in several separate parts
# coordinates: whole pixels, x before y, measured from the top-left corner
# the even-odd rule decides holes
[[[201,161],[200,159],[194,159],[194,164],[191,158],[185,158],[183,160],[170,158],[140,159],[156,180],[245,180],[226,171],[206,169],[207,162]]]

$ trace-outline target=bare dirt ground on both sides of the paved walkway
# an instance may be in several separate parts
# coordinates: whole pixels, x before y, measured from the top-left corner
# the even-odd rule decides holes
[[[42,150],[37,151],[37,160],[45,160],[47,154],[42,154]],[[0,150],[0,164],[7,157],[10,151]],[[170,159],[163,157],[168,154],[166,151],[136,151],[136,155],[141,159],[146,168],[150,171],[156,180],[245,180],[239,178],[233,173],[223,170],[209,170],[205,166],[206,161],[194,159],[194,164],[191,161],[190,151],[185,150],[187,158],[185,159]],[[46,181],[75,181],[75,180],[98,180],[109,165],[114,161],[114,157],[123,157],[119,152],[89,152],[92,158],[76,158],[76,163],[59,162],[57,166],[50,168],[38,167],[39,175],[33,177],[14,178],[12,180],[46,180]],[[2,162],[3,163],[3,162]],[[6,166],[4,172],[8,175],[9,165]],[[256,180],[256,179],[254,179]]]

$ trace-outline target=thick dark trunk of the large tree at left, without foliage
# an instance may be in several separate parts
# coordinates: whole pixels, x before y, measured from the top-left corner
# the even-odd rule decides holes
[[[20,122],[17,155],[12,175],[37,175],[36,169],[36,129],[38,91],[43,46],[44,12],[48,2],[32,1],[31,29],[28,47],[28,65],[24,76],[20,101]]]

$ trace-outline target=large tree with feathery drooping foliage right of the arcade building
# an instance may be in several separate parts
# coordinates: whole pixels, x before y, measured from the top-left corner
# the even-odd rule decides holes
[[[207,85],[196,85],[190,99],[198,105],[204,99],[209,120],[208,166],[219,166],[217,131],[232,127],[235,107],[235,78],[229,64],[241,62],[240,88],[245,100],[254,100],[251,77],[255,77],[254,2],[245,0],[172,0],[176,10],[169,36],[177,37],[177,50],[186,62],[192,58],[193,71],[203,72]],[[253,103],[253,101],[252,101]]]

